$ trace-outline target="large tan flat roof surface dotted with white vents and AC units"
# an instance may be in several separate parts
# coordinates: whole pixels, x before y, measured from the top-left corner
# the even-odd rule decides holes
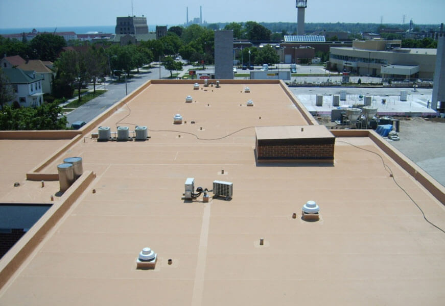
[[[53,173],[79,156],[96,178],[56,197],[57,205],[72,196],[72,205],[15,268],[0,304],[443,304],[445,235],[405,191],[442,228],[444,206],[376,140],[336,139],[333,166],[257,166],[255,127],[310,125],[284,83],[233,80],[204,91],[177,82],[148,83],[93,123],[92,132],[147,125],[149,140],[84,134],[42,168]],[[173,124],[177,113],[187,123]],[[233,197],[183,200],[188,177],[203,188],[232,182]],[[17,200],[55,192],[22,187]],[[318,222],[300,218],[308,200]],[[143,247],[158,254],[154,270],[136,269]]]

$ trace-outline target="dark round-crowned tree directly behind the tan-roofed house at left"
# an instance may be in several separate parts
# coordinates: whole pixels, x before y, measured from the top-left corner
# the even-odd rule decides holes
[[[54,62],[66,41],[62,36],[53,34],[39,34],[30,42],[31,58]]]

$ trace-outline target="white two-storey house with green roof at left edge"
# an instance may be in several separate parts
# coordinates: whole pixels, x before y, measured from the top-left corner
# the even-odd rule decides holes
[[[35,107],[43,104],[43,78],[40,73],[19,68],[3,68],[2,70],[12,86],[14,98],[10,101],[10,105],[15,102],[20,107]]]

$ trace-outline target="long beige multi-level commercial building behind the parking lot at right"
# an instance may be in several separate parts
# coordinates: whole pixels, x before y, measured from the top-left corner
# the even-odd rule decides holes
[[[432,80],[436,49],[402,48],[401,44],[401,40],[355,40],[352,47],[331,47],[330,64],[337,71],[384,79]]]

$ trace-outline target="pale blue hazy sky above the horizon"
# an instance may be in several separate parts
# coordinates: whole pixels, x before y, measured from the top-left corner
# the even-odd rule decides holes
[[[133,3],[133,10],[132,10]],[[147,17],[148,24],[231,21],[296,22],[295,0],[0,0],[0,28],[115,25],[117,16]],[[445,0],[308,0],[306,22],[445,23]]]

